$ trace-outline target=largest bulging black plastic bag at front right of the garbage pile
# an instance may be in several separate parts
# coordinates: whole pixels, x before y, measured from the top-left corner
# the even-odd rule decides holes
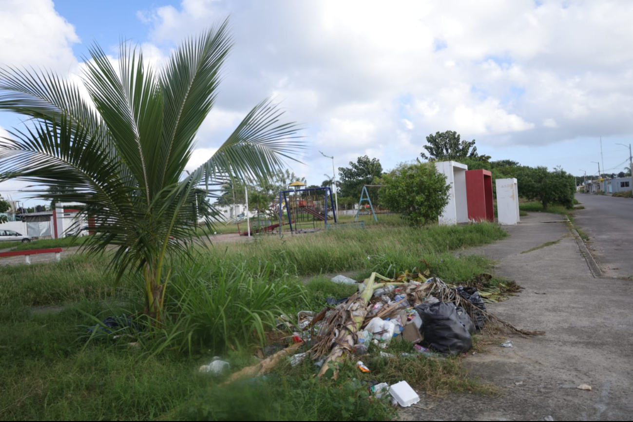
[[[472,337],[462,323],[463,316],[468,318],[465,312],[460,316],[454,304],[446,302],[415,308],[422,318],[420,331],[430,347],[443,354],[461,354],[470,350]]]

